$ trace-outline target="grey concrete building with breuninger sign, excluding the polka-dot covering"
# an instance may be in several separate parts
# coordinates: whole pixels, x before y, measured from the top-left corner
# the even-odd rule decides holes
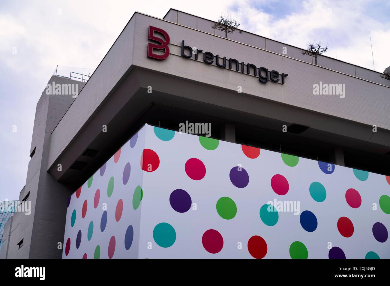
[[[163,19],[136,12],[85,85],[50,79],[80,91],[45,90],[37,103],[20,194],[33,211],[7,224],[7,258],[61,258],[67,198],[145,123],[211,123],[220,140],[390,174],[381,73],[325,56],[317,66],[300,48],[241,30],[226,39],[212,23],[174,9]],[[149,44],[162,48],[148,57]]]

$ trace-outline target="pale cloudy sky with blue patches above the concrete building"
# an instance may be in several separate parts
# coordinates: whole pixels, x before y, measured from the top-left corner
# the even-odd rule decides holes
[[[390,66],[390,1],[0,0],[0,200],[18,199],[26,182],[35,107],[55,66],[95,69],[135,12],[162,18],[169,8],[216,20],[375,70]],[[16,125],[16,132],[12,126]]]

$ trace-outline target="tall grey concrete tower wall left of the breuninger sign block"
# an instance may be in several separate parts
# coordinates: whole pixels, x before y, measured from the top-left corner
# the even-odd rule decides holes
[[[78,84],[79,91],[84,83],[52,76],[48,83]],[[45,89],[46,91],[46,89]],[[15,212],[9,238],[7,258],[60,258],[65,226],[66,199],[72,189],[55,181],[46,172],[51,131],[58,124],[74,98],[69,95],[47,95],[43,92],[35,110],[31,150],[35,154],[28,163],[26,185],[20,192],[19,200],[30,192],[31,214]],[[7,223],[8,224],[8,223]],[[18,243],[23,239],[23,246]],[[5,249],[3,249],[5,250]]]

